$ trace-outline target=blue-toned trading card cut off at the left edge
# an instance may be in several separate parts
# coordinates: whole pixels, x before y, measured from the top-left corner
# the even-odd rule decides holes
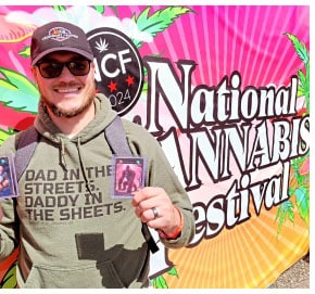
[[[0,199],[17,197],[17,195],[13,157],[0,155]]]

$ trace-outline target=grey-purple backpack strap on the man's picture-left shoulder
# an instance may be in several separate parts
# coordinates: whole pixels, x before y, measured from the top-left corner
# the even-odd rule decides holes
[[[34,126],[17,133],[17,146],[14,156],[16,180],[18,181],[24,170],[29,164],[29,161],[38,144],[39,135]]]

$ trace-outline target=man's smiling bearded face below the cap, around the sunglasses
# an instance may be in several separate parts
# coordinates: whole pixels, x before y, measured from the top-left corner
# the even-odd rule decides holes
[[[46,55],[40,63],[47,62],[46,64],[49,65],[80,60],[84,57],[79,54],[61,51]],[[50,115],[71,118],[91,107],[96,93],[93,63],[90,64],[89,72],[83,76],[72,74],[66,66],[63,67],[60,76],[53,78],[42,77],[37,66],[32,71],[40,98],[48,106]]]

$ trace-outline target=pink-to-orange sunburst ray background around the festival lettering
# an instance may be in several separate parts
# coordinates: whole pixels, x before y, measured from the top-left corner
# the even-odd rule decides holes
[[[156,54],[166,48],[163,56],[174,62],[179,59],[194,61],[198,66],[191,75],[191,84],[196,87],[216,86],[234,71],[241,75],[242,89],[248,86],[281,87],[290,82],[297,68],[303,68],[285,34],[298,36],[308,47],[307,9],[272,5],[190,8],[194,13],[178,18],[161,36],[159,44],[150,43],[149,49],[151,54]],[[179,40],[172,36],[178,36]],[[163,119],[167,119],[166,114]],[[263,178],[262,174],[260,176]],[[201,199],[202,194],[209,196],[204,200],[207,203],[215,194],[226,192],[227,183],[213,184],[206,181],[207,177],[200,175],[204,190],[190,191],[191,200]],[[278,206],[269,210],[263,206],[259,216],[252,210],[249,221],[231,230],[224,229],[215,238],[203,239],[196,247],[171,250],[168,257],[176,265],[178,277],[164,274],[168,287],[267,287],[308,247],[308,228],[299,212],[294,212],[294,223],[287,220],[278,234],[277,209]]]

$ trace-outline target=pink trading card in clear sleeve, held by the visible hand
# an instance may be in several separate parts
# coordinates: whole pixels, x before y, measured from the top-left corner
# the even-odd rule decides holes
[[[144,187],[144,157],[113,156],[112,197],[129,199]]]

